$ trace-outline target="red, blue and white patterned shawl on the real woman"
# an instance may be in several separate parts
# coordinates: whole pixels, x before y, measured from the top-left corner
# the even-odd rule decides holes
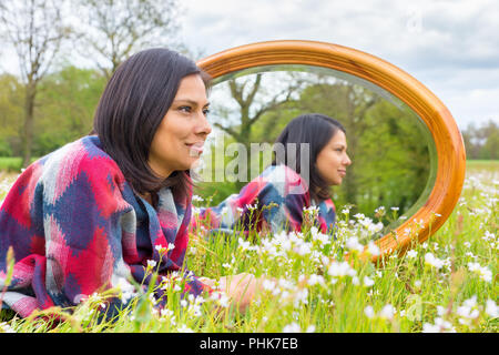
[[[10,246],[16,258],[3,305],[23,317],[37,308],[74,306],[130,276],[141,283],[147,261],[160,275],[185,275],[191,197],[162,189],[154,210],[133,193],[96,136],[34,162],[0,209],[0,292]],[[195,276],[190,280],[185,292],[205,290]]]

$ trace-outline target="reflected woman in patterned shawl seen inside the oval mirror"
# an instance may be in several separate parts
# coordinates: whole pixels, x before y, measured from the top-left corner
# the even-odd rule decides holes
[[[238,194],[193,214],[191,230],[225,230],[241,223],[247,231],[301,231],[304,210],[317,211],[312,223],[330,233],[336,212],[330,186],[339,185],[352,164],[344,126],[318,113],[292,120],[274,144],[275,159]],[[308,212],[305,212],[305,215]]]

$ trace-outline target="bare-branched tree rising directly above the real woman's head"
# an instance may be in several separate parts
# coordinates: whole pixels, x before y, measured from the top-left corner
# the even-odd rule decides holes
[[[83,21],[80,38],[109,79],[133,52],[173,44],[177,0],[73,0]],[[170,39],[170,40],[165,40]]]

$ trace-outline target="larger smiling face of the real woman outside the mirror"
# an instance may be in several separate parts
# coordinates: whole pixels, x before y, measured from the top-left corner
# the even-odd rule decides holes
[[[160,176],[189,170],[200,159],[203,144],[212,131],[206,88],[198,74],[182,79],[172,105],[154,134],[149,165]]]

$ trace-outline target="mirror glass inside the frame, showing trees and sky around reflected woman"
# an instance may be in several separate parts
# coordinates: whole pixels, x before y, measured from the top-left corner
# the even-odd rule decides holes
[[[333,187],[338,217],[361,213],[385,235],[428,199],[437,171],[426,124],[388,91],[352,74],[312,65],[264,65],[216,78],[208,138],[195,170],[195,194],[215,205],[237,193],[272,161],[284,126],[302,113],[323,113],[345,126],[353,164]]]

